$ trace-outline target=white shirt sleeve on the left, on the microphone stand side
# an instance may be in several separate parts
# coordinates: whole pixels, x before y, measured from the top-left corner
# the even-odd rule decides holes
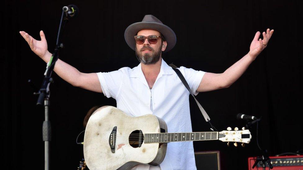
[[[116,98],[123,81],[123,72],[119,69],[112,72],[98,72],[101,89],[107,98]]]

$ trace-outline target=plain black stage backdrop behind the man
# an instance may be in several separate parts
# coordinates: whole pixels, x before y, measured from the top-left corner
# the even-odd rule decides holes
[[[249,51],[256,31],[274,29],[268,47],[243,76],[227,89],[200,93],[197,99],[220,130],[241,128],[237,113],[263,116],[259,140],[270,155],[302,146],[302,3],[298,1],[37,1],[5,0],[1,9],[1,155],[2,167],[42,169],[44,110],[36,107],[31,79],[38,87],[45,63],[19,31],[39,39],[43,30],[53,52],[61,9],[75,4],[80,15],[66,26],[60,59],[81,72],[109,72],[138,65],[124,40],[124,30],[152,14],[177,35],[167,63],[206,72],[224,72]],[[86,112],[95,105],[113,105],[113,98],[73,87],[53,74],[50,120],[51,168],[76,169],[83,157],[75,144]],[[209,131],[190,97],[193,131]],[[194,142],[196,151],[219,150],[223,169],[247,169],[247,158],[260,155],[256,128],[246,147],[220,141]],[[233,168],[232,168],[233,167]]]

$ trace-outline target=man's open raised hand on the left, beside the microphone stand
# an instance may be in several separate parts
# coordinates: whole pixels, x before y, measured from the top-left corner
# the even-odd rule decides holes
[[[34,39],[32,36],[30,36],[25,31],[20,31],[19,33],[25,39],[25,41],[29,44],[30,49],[35,54],[37,54],[41,59],[46,61],[46,60],[48,60],[48,59],[46,59],[46,56],[47,56],[47,58],[50,58],[49,55],[51,55],[51,54],[47,50],[47,42],[46,42],[43,31],[40,31],[41,41],[37,41],[36,39]],[[46,62],[48,62],[48,61],[46,61]]]

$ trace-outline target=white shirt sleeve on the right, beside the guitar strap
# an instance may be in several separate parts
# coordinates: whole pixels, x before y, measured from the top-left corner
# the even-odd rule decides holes
[[[190,89],[192,90],[192,94],[197,95],[197,89],[200,85],[200,82],[205,74],[203,71],[197,71],[192,68],[186,68],[181,66],[179,68],[180,72],[183,74],[185,80],[187,81]]]

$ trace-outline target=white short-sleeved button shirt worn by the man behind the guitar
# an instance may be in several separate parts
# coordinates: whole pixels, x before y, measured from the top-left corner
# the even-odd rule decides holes
[[[205,72],[185,67],[178,69],[188,82],[193,94],[197,95],[196,90]],[[130,116],[156,115],[166,122],[168,133],[192,132],[189,111],[190,93],[176,72],[163,59],[160,73],[152,90],[149,89],[144,77],[141,63],[134,68],[124,67],[112,72],[98,72],[97,75],[104,95],[107,98],[115,98],[117,108],[126,114]],[[160,167],[162,170],[197,169],[192,141],[168,143],[166,155]],[[138,165],[134,169],[148,170],[149,166]]]

